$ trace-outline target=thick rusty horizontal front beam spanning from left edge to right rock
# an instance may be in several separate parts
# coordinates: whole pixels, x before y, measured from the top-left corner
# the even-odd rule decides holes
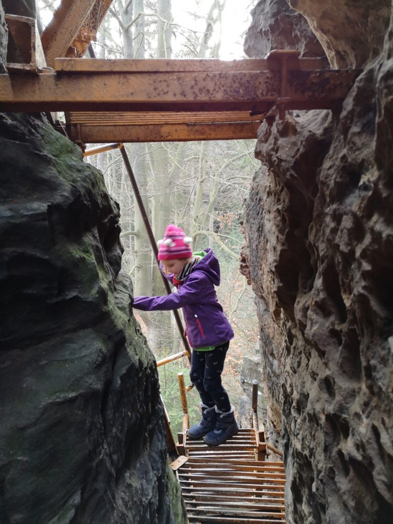
[[[84,60],[83,60],[84,61]],[[287,109],[329,109],[359,71],[287,71]],[[2,111],[259,111],[281,93],[274,71],[0,75]],[[283,100],[283,99],[282,99]]]

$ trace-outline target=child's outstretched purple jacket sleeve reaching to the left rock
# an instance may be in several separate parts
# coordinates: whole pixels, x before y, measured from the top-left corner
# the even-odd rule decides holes
[[[190,275],[177,293],[164,297],[134,297],[133,307],[143,311],[168,311],[201,302],[205,279],[208,279],[203,275],[201,272]]]

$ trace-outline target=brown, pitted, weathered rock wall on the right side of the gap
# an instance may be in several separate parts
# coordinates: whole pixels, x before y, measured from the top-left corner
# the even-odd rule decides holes
[[[266,13],[275,2],[261,4]],[[292,0],[291,6],[311,21],[332,65],[365,70],[341,114],[292,113],[259,130],[263,167],[246,203],[243,257],[257,296],[268,431],[285,450],[287,522],[387,524],[393,514],[391,25],[384,48],[383,41],[391,3],[339,8]],[[258,56],[259,49],[248,52]]]

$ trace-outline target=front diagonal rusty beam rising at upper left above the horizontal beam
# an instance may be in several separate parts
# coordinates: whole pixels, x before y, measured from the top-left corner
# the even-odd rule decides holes
[[[53,67],[55,58],[67,56],[95,2],[96,0],[62,0],[41,35],[47,65]]]

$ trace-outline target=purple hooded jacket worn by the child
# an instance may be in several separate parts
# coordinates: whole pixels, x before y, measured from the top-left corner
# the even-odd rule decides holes
[[[178,292],[165,297],[135,297],[134,308],[167,311],[182,308],[185,330],[192,347],[217,346],[233,339],[234,333],[217,300],[214,286],[220,285],[220,264],[212,250],[195,264]],[[173,275],[166,275],[173,284]]]

